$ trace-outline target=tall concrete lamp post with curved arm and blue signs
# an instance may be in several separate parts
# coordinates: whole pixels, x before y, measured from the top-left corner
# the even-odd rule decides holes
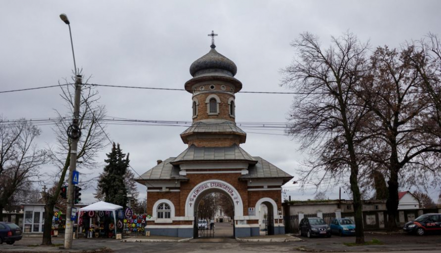
[[[71,153],[70,153],[70,166],[69,166],[69,179],[68,179],[68,199],[66,205],[66,230],[64,236],[64,248],[71,249],[72,248],[72,240],[73,240],[73,221],[70,216],[72,215],[72,207],[73,207],[73,172],[76,169],[76,159],[77,159],[77,148],[78,148],[78,139],[81,137],[81,130],[78,126],[79,120],[79,105],[80,105],[80,96],[81,96],[81,81],[82,76],[77,74],[76,64],[75,64],[75,54],[73,53],[73,42],[72,42],[72,32],[71,32],[71,24],[69,22],[66,14],[62,13],[60,15],[60,19],[69,26],[69,34],[71,37],[71,46],[72,46],[72,55],[73,55],[73,66],[75,68],[75,98],[73,104],[73,120],[72,124],[68,128],[67,135],[71,139]]]

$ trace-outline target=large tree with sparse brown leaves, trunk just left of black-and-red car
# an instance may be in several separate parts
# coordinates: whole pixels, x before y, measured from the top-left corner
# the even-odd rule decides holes
[[[378,47],[371,56],[370,77],[355,92],[373,114],[365,127],[371,139],[363,147],[376,167],[386,168],[389,230],[396,229],[400,178],[415,183],[427,175],[437,177],[439,171],[435,154],[441,143],[425,127],[430,99],[421,90],[422,78],[408,50],[413,48]]]

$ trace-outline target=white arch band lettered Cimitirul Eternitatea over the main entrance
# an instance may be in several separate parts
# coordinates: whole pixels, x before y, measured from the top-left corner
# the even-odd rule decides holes
[[[187,196],[185,201],[185,216],[195,215],[195,206],[206,193],[222,191],[231,198],[234,205],[234,216],[244,216],[244,203],[241,195],[233,185],[221,180],[207,180],[197,184]]]

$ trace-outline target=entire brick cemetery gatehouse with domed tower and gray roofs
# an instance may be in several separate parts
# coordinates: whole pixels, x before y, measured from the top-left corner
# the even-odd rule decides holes
[[[193,78],[184,85],[193,94],[193,123],[180,135],[188,148],[158,160],[136,179],[147,186],[151,218],[146,230],[150,235],[197,237],[200,200],[221,192],[234,205],[235,237],[260,235],[261,204],[268,209],[268,234],[284,234],[281,186],[293,177],[241,148],[246,133],[235,123],[235,93],[242,83],[234,77],[234,62],[215,47],[212,40],[211,50],[190,66]]]

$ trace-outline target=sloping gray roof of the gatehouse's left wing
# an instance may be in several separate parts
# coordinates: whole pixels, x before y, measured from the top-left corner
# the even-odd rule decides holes
[[[136,180],[188,180],[186,177],[179,175],[179,167],[170,164],[170,161],[173,161],[174,159],[174,157],[171,157],[166,161],[159,163]]]

